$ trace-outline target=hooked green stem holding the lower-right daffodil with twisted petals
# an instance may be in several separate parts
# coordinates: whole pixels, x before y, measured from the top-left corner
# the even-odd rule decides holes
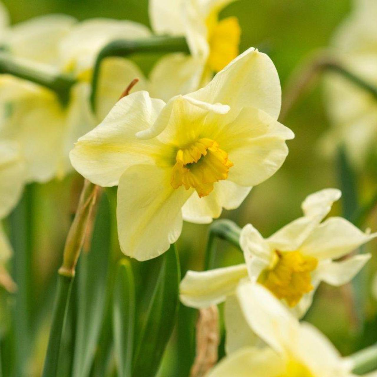
[[[241,228],[233,221],[227,219],[214,221],[208,231],[204,270],[207,271],[215,268],[217,250],[216,238],[224,239],[241,250],[239,245],[240,234]]]

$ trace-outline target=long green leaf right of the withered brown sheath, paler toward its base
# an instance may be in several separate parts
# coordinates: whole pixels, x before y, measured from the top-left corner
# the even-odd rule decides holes
[[[106,278],[110,249],[110,210],[102,195],[93,228],[90,251],[78,269],[77,327],[73,377],[86,377],[92,367],[106,308]]]

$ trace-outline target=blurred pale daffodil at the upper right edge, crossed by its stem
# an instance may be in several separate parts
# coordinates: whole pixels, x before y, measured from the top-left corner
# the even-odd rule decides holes
[[[377,5],[358,0],[352,14],[340,25],[333,42],[333,54],[350,72],[377,86]],[[377,101],[373,95],[339,74],[326,78],[326,107],[332,123],[320,144],[321,153],[332,155],[341,143],[352,163],[360,167],[377,140]]]

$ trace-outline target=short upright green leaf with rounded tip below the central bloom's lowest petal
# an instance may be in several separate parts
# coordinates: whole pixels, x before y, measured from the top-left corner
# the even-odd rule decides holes
[[[116,274],[113,299],[113,336],[119,377],[129,377],[132,371],[135,337],[135,283],[132,267],[123,259]]]

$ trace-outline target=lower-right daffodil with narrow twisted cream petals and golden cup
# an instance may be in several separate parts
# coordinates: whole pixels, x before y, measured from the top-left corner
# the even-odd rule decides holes
[[[363,233],[340,217],[321,222],[340,195],[337,189],[309,195],[302,203],[304,216],[267,239],[252,225],[246,225],[240,236],[245,264],[187,272],[180,286],[181,301],[187,306],[202,308],[226,300],[228,311],[233,313],[228,316],[231,320],[237,315],[231,296],[246,279],[264,285],[297,317],[302,317],[321,281],[334,286],[349,282],[370,254],[359,254],[343,261],[334,259],[346,256],[377,236],[377,233]],[[228,340],[229,348],[235,348],[236,340],[233,337]]]

